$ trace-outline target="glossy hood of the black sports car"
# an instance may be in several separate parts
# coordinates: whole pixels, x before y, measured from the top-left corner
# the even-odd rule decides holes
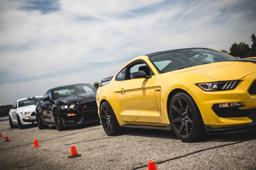
[[[84,102],[92,102],[96,100],[96,93],[83,93],[78,95],[67,96],[63,98],[57,99],[59,102],[63,102],[65,104],[77,104]]]

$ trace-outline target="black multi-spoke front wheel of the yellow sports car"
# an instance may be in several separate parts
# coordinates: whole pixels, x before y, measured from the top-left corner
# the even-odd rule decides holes
[[[170,104],[170,121],[175,134],[183,142],[199,140],[205,133],[195,101],[185,93],[177,93]]]

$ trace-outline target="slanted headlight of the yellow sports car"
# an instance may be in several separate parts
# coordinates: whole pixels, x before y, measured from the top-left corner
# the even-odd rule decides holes
[[[232,81],[218,81],[210,83],[198,83],[196,84],[204,91],[223,91],[223,90],[233,90],[238,85],[239,80]]]

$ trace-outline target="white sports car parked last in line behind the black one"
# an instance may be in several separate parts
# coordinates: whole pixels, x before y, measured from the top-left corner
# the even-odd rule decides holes
[[[9,111],[11,129],[15,126],[22,129],[24,126],[36,124],[35,105],[42,98],[43,96],[35,96],[17,100]]]

